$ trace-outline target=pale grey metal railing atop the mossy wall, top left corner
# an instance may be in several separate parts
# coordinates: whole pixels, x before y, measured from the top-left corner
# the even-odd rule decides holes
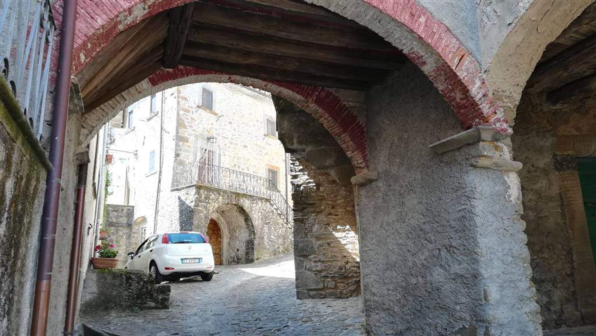
[[[54,44],[49,0],[0,0],[0,69],[40,139]]]

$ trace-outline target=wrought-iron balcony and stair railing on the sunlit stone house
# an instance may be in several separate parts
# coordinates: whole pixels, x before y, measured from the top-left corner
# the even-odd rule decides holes
[[[271,204],[284,218],[288,225],[293,223],[294,213],[290,204],[268,178],[253,175],[239,170],[215,166],[202,162],[193,162],[174,167],[172,189],[193,185],[211,186],[213,188],[241,192],[269,198]]]

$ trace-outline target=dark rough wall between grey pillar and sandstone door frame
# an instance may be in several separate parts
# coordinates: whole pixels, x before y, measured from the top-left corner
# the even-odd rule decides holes
[[[544,97],[524,95],[518,111],[512,141],[516,160],[524,164],[519,172],[523,219],[527,223],[532,281],[541,306],[542,325],[547,329],[582,325],[585,322],[578,310],[572,241],[561,198],[564,186],[560,173],[567,167],[562,169],[555,146],[557,136],[593,135],[596,104],[578,102],[552,108]]]

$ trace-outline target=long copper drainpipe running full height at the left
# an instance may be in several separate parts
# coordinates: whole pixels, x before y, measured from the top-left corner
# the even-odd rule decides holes
[[[54,267],[54,245],[56,241],[62,164],[64,160],[64,135],[66,134],[66,120],[69,110],[76,7],[77,0],[64,1],[62,32],[60,33],[60,54],[58,56],[58,75],[49,148],[49,161],[52,163],[52,169],[49,170],[46,179],[37,280],[35,297],[33,299],[31,336],[45,336],[48,325],[49,294],[52,283],[52,269]]]

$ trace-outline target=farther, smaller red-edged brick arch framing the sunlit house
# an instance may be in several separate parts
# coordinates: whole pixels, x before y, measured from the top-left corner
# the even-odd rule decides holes
[[[161,69],[132,88],[120,93],[100,107],[83,114],[82,144],[89,142],[101,125],[133,104],[164,89],[200,82],[234,83],[252,86],[277,95],[302,108],[318,120],[343,148],[356,172],[367,169],[367,139],[365,126],[350,111],[333,91],[316,86],[306,86],[271,80],[259,80],[244,76],[234,76],[217,71],[177,67]]]

